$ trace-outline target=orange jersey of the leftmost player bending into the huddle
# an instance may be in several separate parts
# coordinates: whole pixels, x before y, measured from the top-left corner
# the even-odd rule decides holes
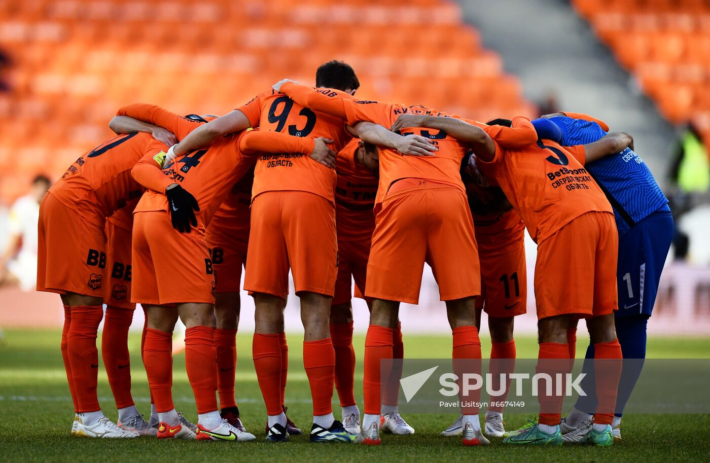
[[[123,111],[134,107],[149,108],[156,114],[156,119],[163,122],[164,125],[161,125],[172,131],[178,139],[198,126],[195,121],[148,104],[121,108],[118,115],[131,116]],[[50,193],[83,217],[100,222],[116,209],[126,207],[131,200],[138,200],[145,191],[142,185],[133,180],[131,169],[153,142],[153,137],[138,132],[111,138],[78,158],[50,188]]]

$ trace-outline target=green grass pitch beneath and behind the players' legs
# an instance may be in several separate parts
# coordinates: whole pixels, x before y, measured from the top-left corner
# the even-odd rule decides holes
[[[584,356],[588,339],[580,335],[577,358]],[[310,389],[301,361],[301,337],[289,336],[290,368],[286,401],[289,415],[304,431],[310,430]],[[536,358],[534,337],[518,337],[518,356]],[[447,358],[451,338],[405,334],[408,358]],[[380,447],[311,444],[308,437],[292,437],[283,445],[263,442],[266,411],[251,361],[251,335],[238,335],[237,398],[247,429],[256,442],[158,442],[88,440],[70,436],[73,413],[59,351],[58,330],[13,330],[0,342],[0,462],[707,462],[710,459],[709,415],[628,415],[623,420],[623,442],[611,449],[567,445],[561,448],[510,447],[493,440],[489,447],[463,447],[458,438],[439,437],[455,415],[407,415],[416,429],[412,436],[383,435]],[[100,342],[100,339],[99,339]],[[362,360],[363,336],[354,339]],[[483,352],[490,342],[483,337]],[[100,344],[99,344],[100,345]],[[131,333],[133,396],[148,414],[148,382],[138,356],[140,338]],[[710,338],[651,337],[649,358],[710,357]],[[104,413],[116,419],[106,375],[100,370],[99,397]],[[185,374],[185,356],[175,356],[175,405],[195,420],[195,404]],[[704,385],[702,387],[707,387]],[[356,370],[356,396],[362,397],[361,364]],[[360,403],[361,405],[361,403]],[[339,417],[337,395],[334,412]],[[532,418],[506,415],[514,429]]]

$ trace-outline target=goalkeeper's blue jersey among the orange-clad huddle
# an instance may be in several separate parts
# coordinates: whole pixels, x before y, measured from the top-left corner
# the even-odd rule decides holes
[[[533,125],[541,120],[545,119],[537,119]],[[558,134],[559,140],[555,141],[562,146],[585,145],[606,135],[606,131],[596,122],[566,116],[547,120],[559,127],[561,135]],[[667,198],[648,166],[632,149],[626,148],[621,153],[595,160],[585,167],[613,207],[619,236],[652,212],[667,209]]]

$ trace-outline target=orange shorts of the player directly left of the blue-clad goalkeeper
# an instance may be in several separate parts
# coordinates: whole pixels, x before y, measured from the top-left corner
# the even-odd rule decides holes
[[[537,319],[608,315],[618,307],[613,214],[587,212],[537,245]]]

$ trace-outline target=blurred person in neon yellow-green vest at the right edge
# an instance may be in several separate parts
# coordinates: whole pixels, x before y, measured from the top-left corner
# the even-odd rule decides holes
[[[670,180],[684,192],[706,192],[710,188],[708,150],[694,124],[687,124],[678,137]]]

